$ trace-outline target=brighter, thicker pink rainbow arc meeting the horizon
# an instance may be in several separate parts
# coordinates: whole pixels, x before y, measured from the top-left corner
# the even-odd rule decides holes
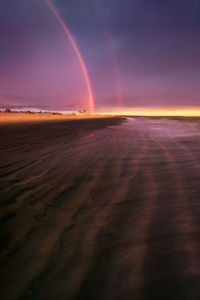
[[[67,27],[67,25],[65,24],[64,20],[62,19],[61,15],[59,14],[59,12],[57,11],[57,9],[55,8],[54,4],[51,2],[51,0],[45,0],[46,3],[48,4],[49,8],[51,9],[51,11],[54,13],[54,15],[56,16],[58,22],[60,23],[60,25],[62,26],[62,28],[64,29],[64,32],[66,33],[67,37],[69,38],[72,47],[77,55],[77,58],[80,62],[81,65],[81,69],[86,81],[86,85],[87,85],[87,90],[88,90],[88,96],[89,96],[89,107],[90,107],[90,111],[93,112],[95,109],[95,105],[94,105],[94,96],[93,96],[93,92],[92,92],[92,86],[91,86],[91,82],[90,82],[90,77],[88,74],[88,70],[86,67],[86,64],[84,62],[83,56],[78,48],[78,45],[74,39],[74,37],[72,36],[69,28]]]

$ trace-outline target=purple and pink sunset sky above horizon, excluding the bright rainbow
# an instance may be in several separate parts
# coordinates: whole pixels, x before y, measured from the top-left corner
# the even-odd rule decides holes
[[[200,106],[199,0],[52,4],[0,1],[1,107]]]

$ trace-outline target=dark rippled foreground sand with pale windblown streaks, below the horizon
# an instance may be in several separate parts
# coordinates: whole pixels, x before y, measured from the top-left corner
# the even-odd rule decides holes
[[[1,299],[200,299],[199,122],[121,121],[1,126]]]

